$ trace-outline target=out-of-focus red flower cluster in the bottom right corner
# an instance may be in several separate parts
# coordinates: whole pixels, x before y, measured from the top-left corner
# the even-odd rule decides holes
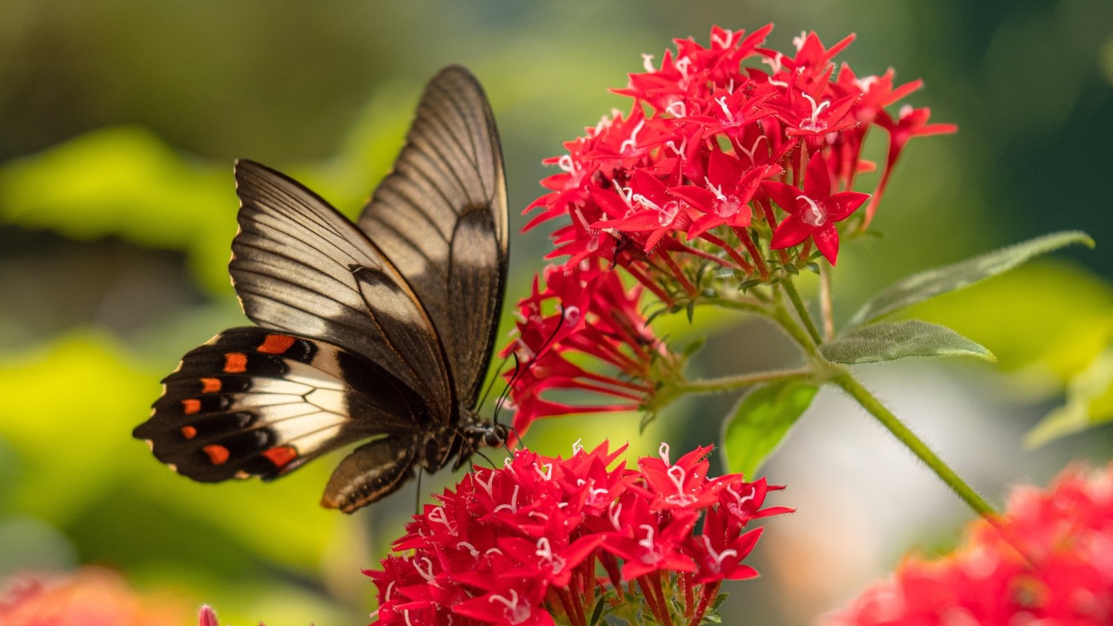
[[[953,554],[906,560],[825,624],[1113,624],[1113,464],[1017,488],[999,526],[973,522]]]

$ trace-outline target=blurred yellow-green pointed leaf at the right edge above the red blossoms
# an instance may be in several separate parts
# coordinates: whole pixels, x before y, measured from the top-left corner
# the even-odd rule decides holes
[[[1036,448],[1074,432],[1113,421],[1113,345],[1078,372],[1066,388],[1066,403],[1040,421],[1024,437]]]

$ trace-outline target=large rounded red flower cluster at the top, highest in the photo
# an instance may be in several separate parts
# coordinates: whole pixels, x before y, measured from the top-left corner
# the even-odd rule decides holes
[[[526,226],[567,216],[553,233],[564,266],[604,257],[636,275],[660,273],[696,294],[691,266],[711,263],[770,280],[778,265],[802,266],[811,247],[831,264],[836,227],[869,198],[854,190],[874,165],[861,159],[867,133],[889,135],[889,155],[874,202],[855,228],[865,228],[904,145],[913,136],[951,133],[928,125],[928,109],[894,119],[885,107],[920,86],[894,87],[893,70],[858,78],[831,59],[851,37],[825,48],[815,32],[796,52],[761,48],[772,25],[749,36],[711,29],[710,46],[676,40],[659,67],[631,74],[615,92],[633,99],[549,159],[562,172],[551,193],[528,212]],[[779,253],[775,263],[767,250]],[[792,252],[794,248],[795,252]]]

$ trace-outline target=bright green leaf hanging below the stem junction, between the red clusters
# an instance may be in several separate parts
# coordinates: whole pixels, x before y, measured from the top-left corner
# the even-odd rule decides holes
[[[731,410],[722,432],[727,471],[751,478],[811,404],[818,387],[787,380],[754,389]]]

